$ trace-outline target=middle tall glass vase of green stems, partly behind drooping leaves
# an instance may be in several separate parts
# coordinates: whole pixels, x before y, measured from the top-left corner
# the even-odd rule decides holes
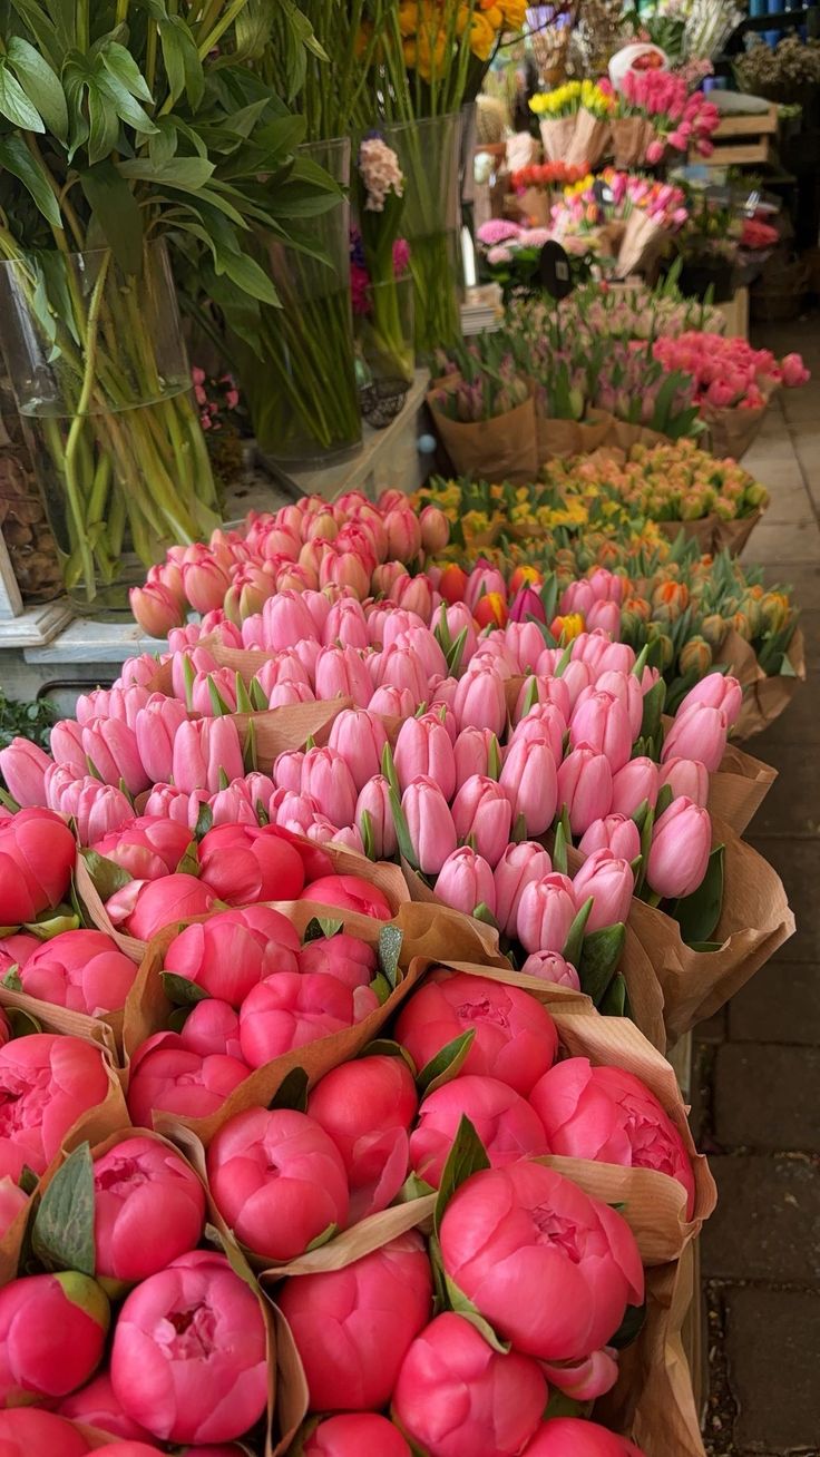
[[[350,138],[309,143],[300,153],[347,189]],[[248,345],[236,351],[259,450],[283,465],[328,465],[361,443],[347,191],[310,219],[310,249],[265,239],[265,265],[281,307],[261,309],[264,358]]]

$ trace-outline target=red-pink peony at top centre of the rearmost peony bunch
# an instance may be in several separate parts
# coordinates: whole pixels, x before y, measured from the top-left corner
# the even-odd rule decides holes
[[[197,854],[202,883],[229,905],[296,900],[304,886],[301,860],[275,825],[220,825]]]

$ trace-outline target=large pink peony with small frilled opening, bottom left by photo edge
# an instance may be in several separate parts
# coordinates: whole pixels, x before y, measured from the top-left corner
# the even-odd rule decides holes
[[[154,1437],[240,1437],[268,1399],[259,1301],[224,1254],[191,1250],[131,1291],[117,1321],[111,1384]]]

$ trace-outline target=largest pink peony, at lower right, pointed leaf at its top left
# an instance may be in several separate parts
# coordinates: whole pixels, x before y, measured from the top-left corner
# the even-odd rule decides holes
[[[447,1205],[440,1246],[444,1272],[498,1335],[542,1361],[597,1351],[644,1297],[626,1221],[529,1160],[468,1179]]]

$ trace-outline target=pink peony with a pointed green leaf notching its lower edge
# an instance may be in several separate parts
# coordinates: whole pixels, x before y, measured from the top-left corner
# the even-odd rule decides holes
[[[469,1118],[492,1169],[549,1152],[540,1119],[520,1093],[498,1078],[459,1077],[424,1099],[409,1141],[411,1169],[434,1189],[462,1118]]]

